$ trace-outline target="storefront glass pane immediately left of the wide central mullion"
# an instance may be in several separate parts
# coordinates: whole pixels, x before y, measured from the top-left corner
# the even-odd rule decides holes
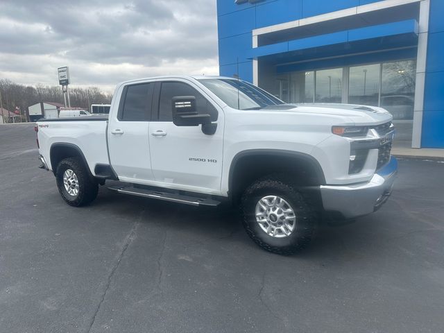
[[[315,102],[341,103],[342,68],[316,71]]]

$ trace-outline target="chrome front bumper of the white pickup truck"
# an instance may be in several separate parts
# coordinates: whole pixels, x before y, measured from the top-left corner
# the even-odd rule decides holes
[[[398,161],[391,157],[386,166],[375,173],[369,182],[354,185],[322,185],[321,198],[324,210],[353,219],[375,212],[391,194],[398,172]]]

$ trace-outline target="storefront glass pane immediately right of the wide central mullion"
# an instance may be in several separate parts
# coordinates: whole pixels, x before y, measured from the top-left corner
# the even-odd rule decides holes
[[[350,67],[348,83],[348,103],[379,104],[380,65]]]

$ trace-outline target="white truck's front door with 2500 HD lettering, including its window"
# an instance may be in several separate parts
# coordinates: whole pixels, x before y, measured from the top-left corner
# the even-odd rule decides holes
[[[223,112],[198,86],[187,81],[157,83],[157,105],[149,128],[151,165],[162,186],[219,194],[223,153]],[[176,126],[171,101],[174,96],[196,96],[196,110],[211,114],[217,123],[214,135],[201,126]],[[154,121],[155,119],[155,121]]]

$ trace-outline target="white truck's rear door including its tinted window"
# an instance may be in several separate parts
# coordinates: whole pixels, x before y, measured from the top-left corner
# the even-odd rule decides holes
[[[153,87],[149,82],[123,87],[117,116],[110,119],[110,161],[120,180],[153,180],[148,142]]]

